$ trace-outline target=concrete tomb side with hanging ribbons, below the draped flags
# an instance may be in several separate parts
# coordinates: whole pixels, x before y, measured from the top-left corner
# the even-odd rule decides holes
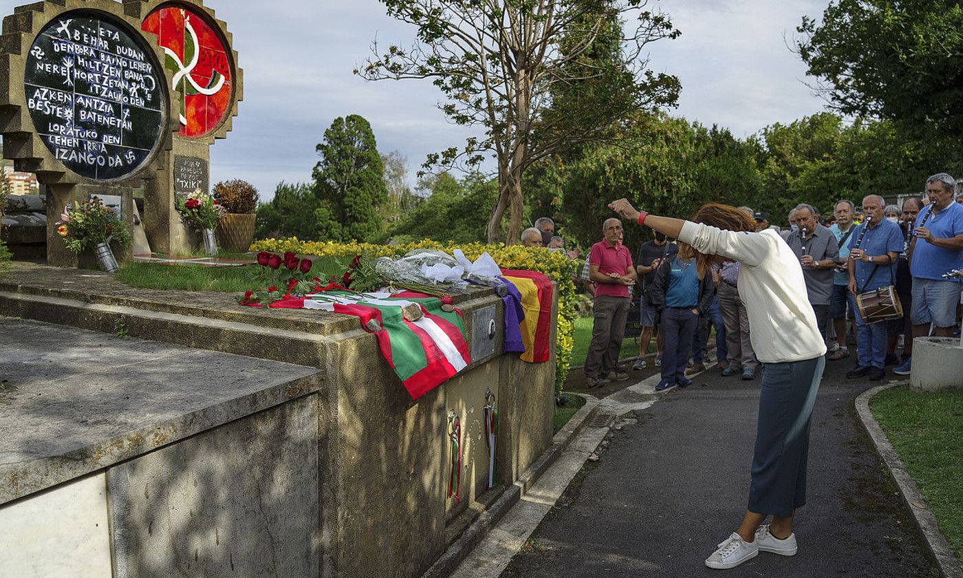
[[[469,336],[471,312],[491,303],[501,320],[500,299],[465,304]],[[502,324],[498,331],[501,352]],[[325,520],[334,576],[420,576],[445,551],[446,524],[466,510],[483,510],[476,500],[487,489],[486,391],[500,411],[496,484],[514,482],[551,445],[554,324],[552,344],[548,362],[526,363],[516,354],[482,358],[415,402],[386,363],[368,361],[379,358],[373,335],[330,344],[325,477],[332,485],[324,510],[335,512]],[[460,502],[447,497],[452,410],[462,427]]]

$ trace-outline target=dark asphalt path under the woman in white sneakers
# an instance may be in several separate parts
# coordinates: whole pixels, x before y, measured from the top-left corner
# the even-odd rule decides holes
[[[830,362],[820,387],[799,554],[763,553],[726,576],[938,575],[855,415],[876,382],[845,380],[850,367]],[[711,370],[635,410],[502,575],[714,575],[703,561],[745,508],[759,384]]]

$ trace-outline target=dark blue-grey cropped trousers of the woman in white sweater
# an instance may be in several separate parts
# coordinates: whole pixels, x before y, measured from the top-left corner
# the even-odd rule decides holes
[[[825,355],[765,364],[749,512],[788,517],[806,503],[809,422],[825,365]]]

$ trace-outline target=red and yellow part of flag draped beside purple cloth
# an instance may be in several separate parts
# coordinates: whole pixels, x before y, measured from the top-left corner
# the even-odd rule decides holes
[[[525,318],[521,320],[522,361],[541,363],[550,355],[549,323],[552,317],[552,280],[534,271],[503,269],[502,276],[522,295]]]

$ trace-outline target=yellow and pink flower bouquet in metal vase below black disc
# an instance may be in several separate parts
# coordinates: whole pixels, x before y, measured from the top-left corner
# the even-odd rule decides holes
[[[78,202],[76,206],[67,203],[56,224],[57,233],[64,237],[67,249],[75,253],[96,250],[100,267],[110,273],[117,271],[117,260],[110,244],[116,243],[119,247],[131,244],[130,227],[97,197]]]

